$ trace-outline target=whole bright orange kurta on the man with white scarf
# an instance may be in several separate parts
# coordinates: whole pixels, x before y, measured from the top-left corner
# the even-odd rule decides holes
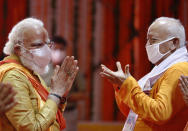
[[[188,107],[178,87],[180,75],[188,75],[188,63],[170,67],[146,95],[133,77],[128,77],[115,96],[120,110],[137,113],[135,131],[182,131],[188,121]]]

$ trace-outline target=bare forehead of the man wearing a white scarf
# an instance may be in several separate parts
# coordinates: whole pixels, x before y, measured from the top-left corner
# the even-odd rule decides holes
[[[147,37],[165,39],[169,36],[169,24],[165,21],[157,21],[148,28]]]

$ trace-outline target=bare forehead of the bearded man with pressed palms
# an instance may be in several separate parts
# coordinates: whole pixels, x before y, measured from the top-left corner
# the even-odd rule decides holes
[[[30,27],[26,27],[22,33],[24,37],[24,43],[31,42],[48,42],[48,33],[44,27],[33,25]]]

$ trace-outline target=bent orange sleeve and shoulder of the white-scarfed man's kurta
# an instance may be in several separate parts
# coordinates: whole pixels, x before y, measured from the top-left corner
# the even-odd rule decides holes
[[[185,106],[177,88],[181,75],[188,75],[187,62],[177,63],[166,70],[153,85],[150,96],[141,90],[133,77],[128,77],[116,91],[116,100],[121,103],[120,110],[129,107],[145,120],[165,124]]]

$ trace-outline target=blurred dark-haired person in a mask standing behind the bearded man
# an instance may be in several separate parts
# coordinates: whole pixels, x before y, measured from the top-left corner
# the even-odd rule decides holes
[[[51,87],[50,78],[54,73],[54,68],[57,65],[61,65],[62,61],[66,57],[66,49],[67,49],[67,41],[61,36],[52,37],[53,44],[51,45],[51,54],[52,60],[51,63],[48,64],[47,71],[42,75],[43,79],[47,83],[48,87]],[[80,100],[84,100],[86,97],[85,85],[83,82],[83,75],[78,73],[75,78],[75,82],[73,83],[73,87],[69,93],[67,99],[66,109],[64,111],[64,117],[66,120],[66,129],[65,131],[76,131],[77,123],[78,123],[78,109],[77,103]]]

